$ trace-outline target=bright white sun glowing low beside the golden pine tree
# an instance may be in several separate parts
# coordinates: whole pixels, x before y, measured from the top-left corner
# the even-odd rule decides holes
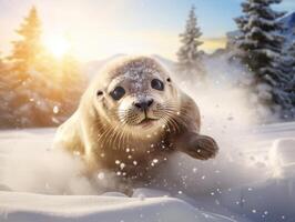
[[[52,34],[44,38],[44,46],[55,58],[61,59],[71,49],[71,43],[65,36]]]

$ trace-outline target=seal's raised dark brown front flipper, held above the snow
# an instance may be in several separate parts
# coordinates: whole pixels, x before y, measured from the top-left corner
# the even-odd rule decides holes
[[[218,145],[213,138],[196,133],[183,135],[179,147],[182,152],[200,160],[215,158],[218,152]]]

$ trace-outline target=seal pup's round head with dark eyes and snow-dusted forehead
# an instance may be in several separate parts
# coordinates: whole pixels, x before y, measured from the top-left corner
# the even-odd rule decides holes
[[[154,59],[136,57],[109,64],[94,81],[94,108],[112,125],[142,132],[163,128],[177,113],[177,90]]]

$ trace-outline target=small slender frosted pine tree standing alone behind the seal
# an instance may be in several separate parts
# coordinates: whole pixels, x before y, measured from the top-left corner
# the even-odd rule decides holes
[[[202,64],[202,51],[199,47],[203,44],[200,41],[202,32],[197,27],[197,21],[195,17],[195,8],[192,7],[189,19],[186,21],[185,31],[180,34],[181,48],[177,51],[177,69],[185,73],[184,78],[194,79],[203,78],[204,68]]]

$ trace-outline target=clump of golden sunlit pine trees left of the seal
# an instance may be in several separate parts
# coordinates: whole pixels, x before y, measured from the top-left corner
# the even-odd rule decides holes
[[[58,125],[77,109],[85,77],[70,52],[57,59],[42,47],[34,7],[17,33],[4,74],[0,64],[0,128]]]

